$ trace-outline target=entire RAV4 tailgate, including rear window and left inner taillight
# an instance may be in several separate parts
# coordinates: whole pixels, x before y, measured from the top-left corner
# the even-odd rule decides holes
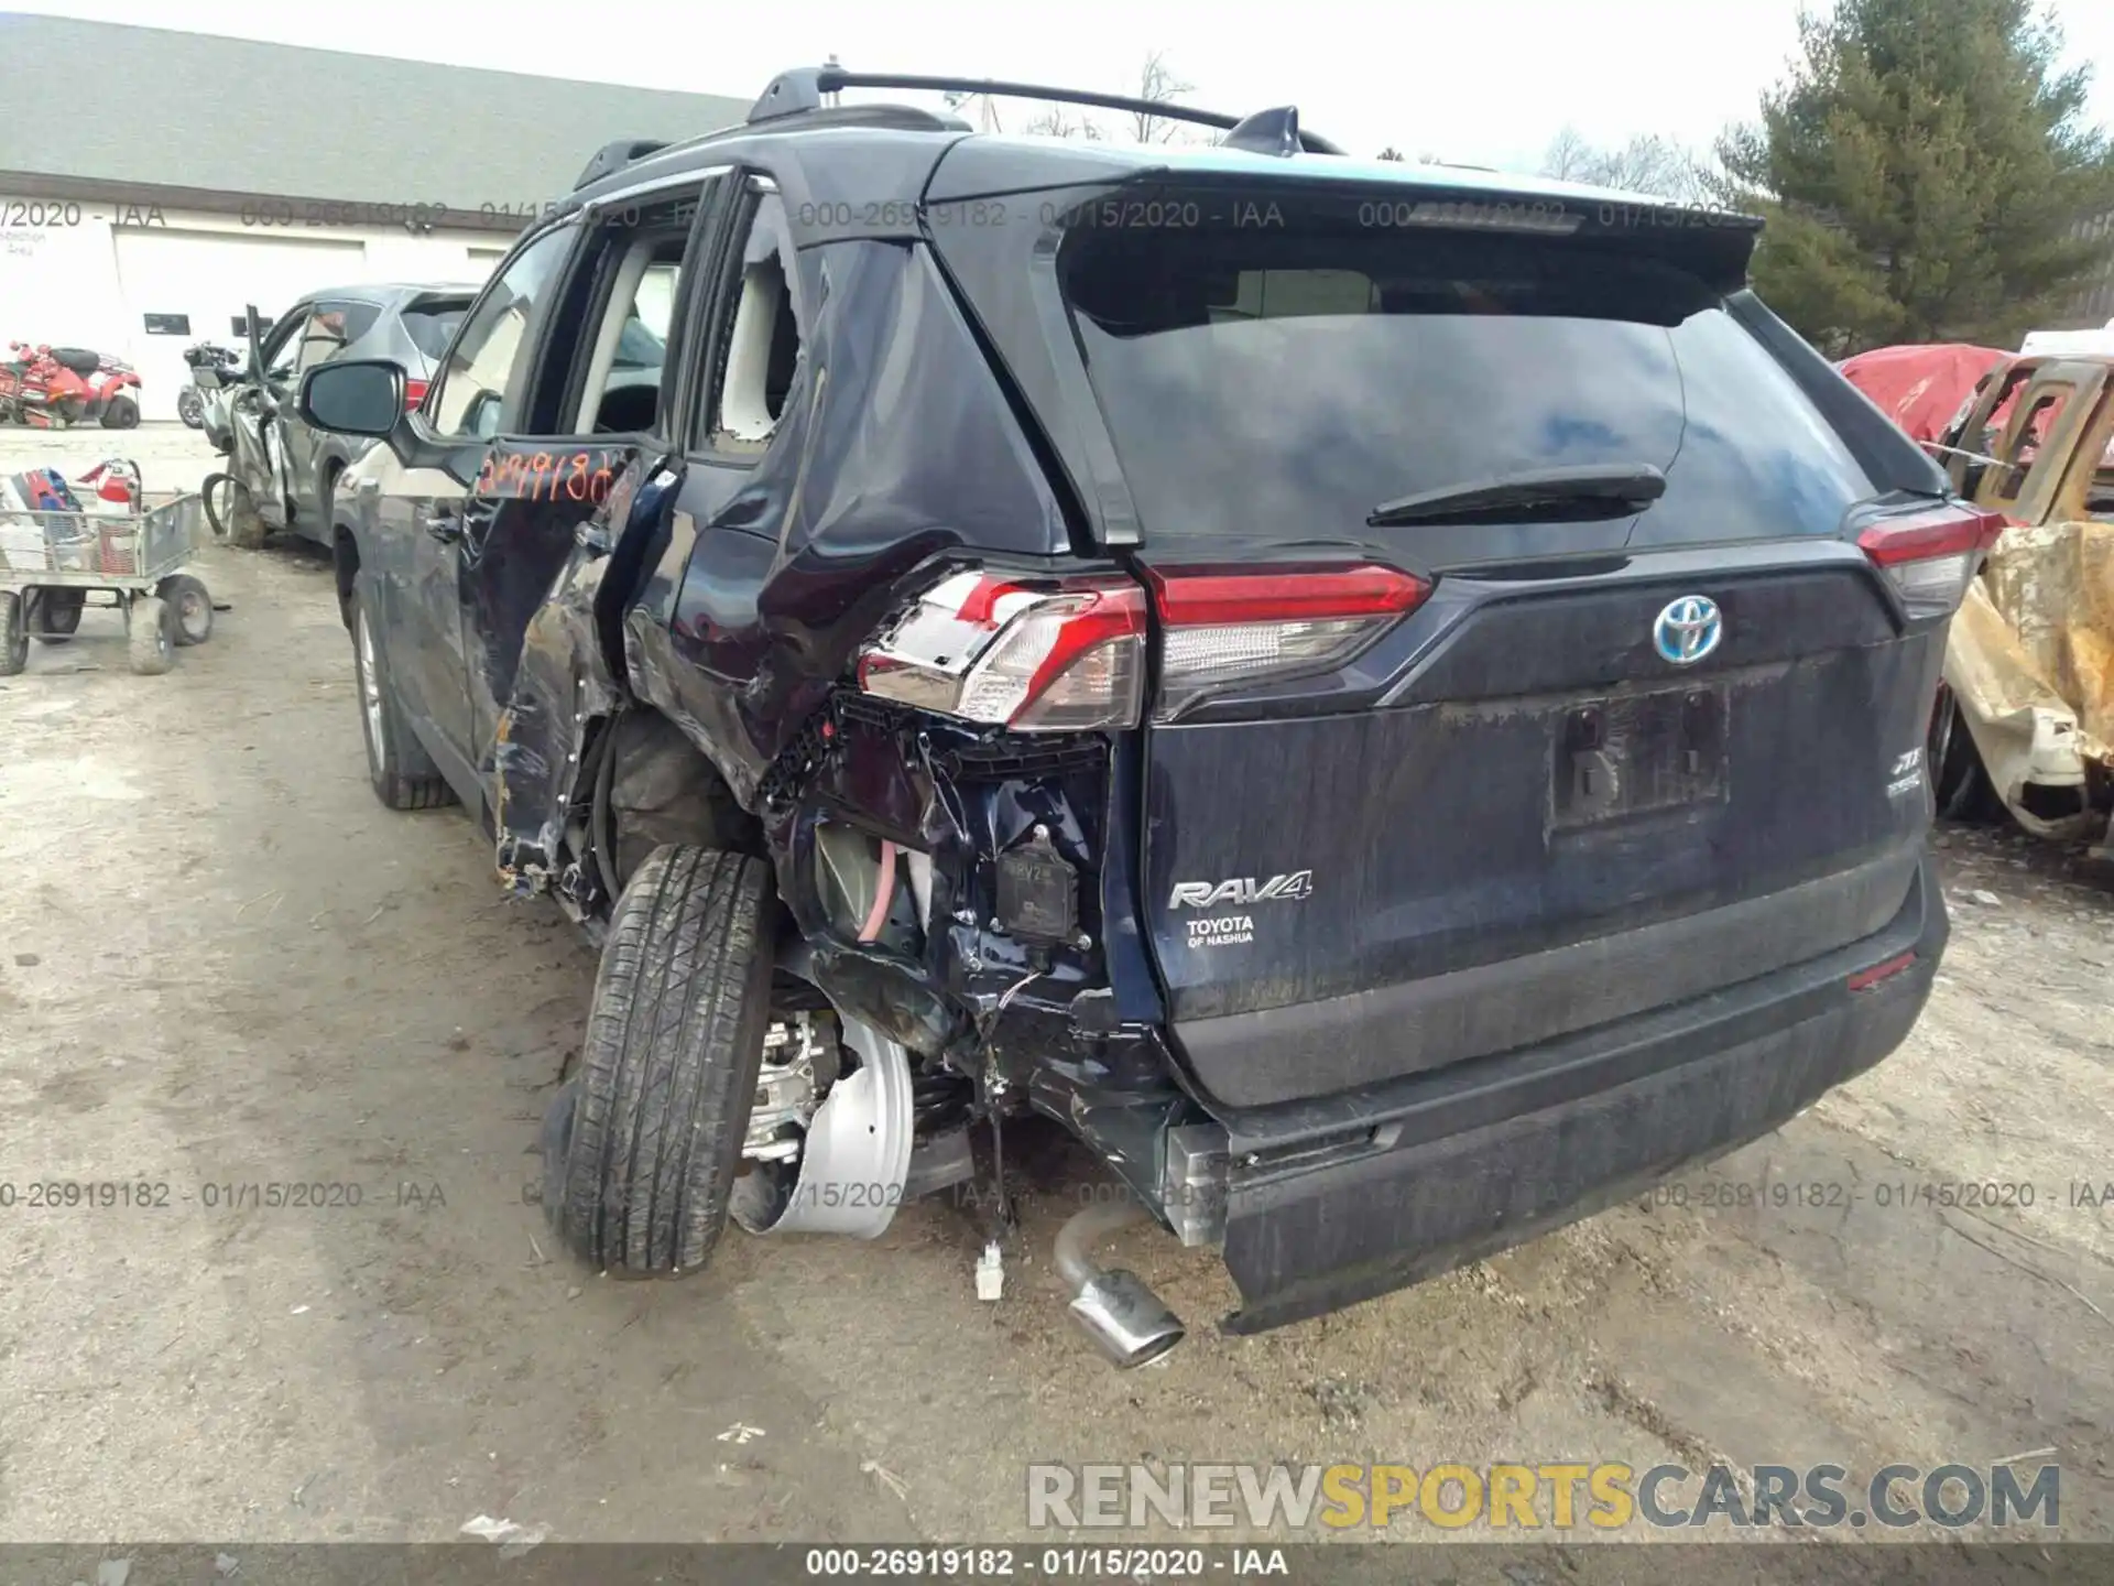
[[[1934,472],[1772,340],[1748,235],[1237,180],[1074,226],[1040,347],[1000,243],[939,241],[1156,588],[1139,924],[1201,1093],[1547,1043],[1892,920],[1943,611],[1854,524]]]

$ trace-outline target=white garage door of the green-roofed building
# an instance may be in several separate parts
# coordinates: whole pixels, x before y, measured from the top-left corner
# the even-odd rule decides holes
[[[190,343],[241,345],[235,326],[243,305],[277,315],[309,292],[366,279],[366,247],[340,239],[127,228],[116,233],[116,252],[131,362],[140,370],[140,410],[148,419],[175,417],[175,393],[190,379],[184,366]]]

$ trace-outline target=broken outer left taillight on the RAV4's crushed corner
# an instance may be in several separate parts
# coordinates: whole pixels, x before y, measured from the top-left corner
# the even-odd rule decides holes
[[[867,694],[1015,732],[1137,725],[1146,592],[1125,577],[1044,588],[958,573],[858,658]]]

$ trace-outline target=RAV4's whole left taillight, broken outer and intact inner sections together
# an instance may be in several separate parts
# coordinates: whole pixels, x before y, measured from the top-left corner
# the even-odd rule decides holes
[[[1391,567],[1148,569],[1165,628],[1158,719],[1197,698],[1340,666],[1414,611],[1431,582]],[[1146,592],[1125,577],[1034,586],[958,573],[858,658],[858,685],[1015,732],[1135,727]]]

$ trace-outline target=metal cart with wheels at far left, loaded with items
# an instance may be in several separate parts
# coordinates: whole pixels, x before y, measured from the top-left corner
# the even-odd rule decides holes
[[[214,632],[214,596],[190,573],[197,495],[140,512],[0,514],[0,677],[30,664],[30,641],[70,641],[91,594],[125,615],[135,672],[167,672],[178,645]]]

